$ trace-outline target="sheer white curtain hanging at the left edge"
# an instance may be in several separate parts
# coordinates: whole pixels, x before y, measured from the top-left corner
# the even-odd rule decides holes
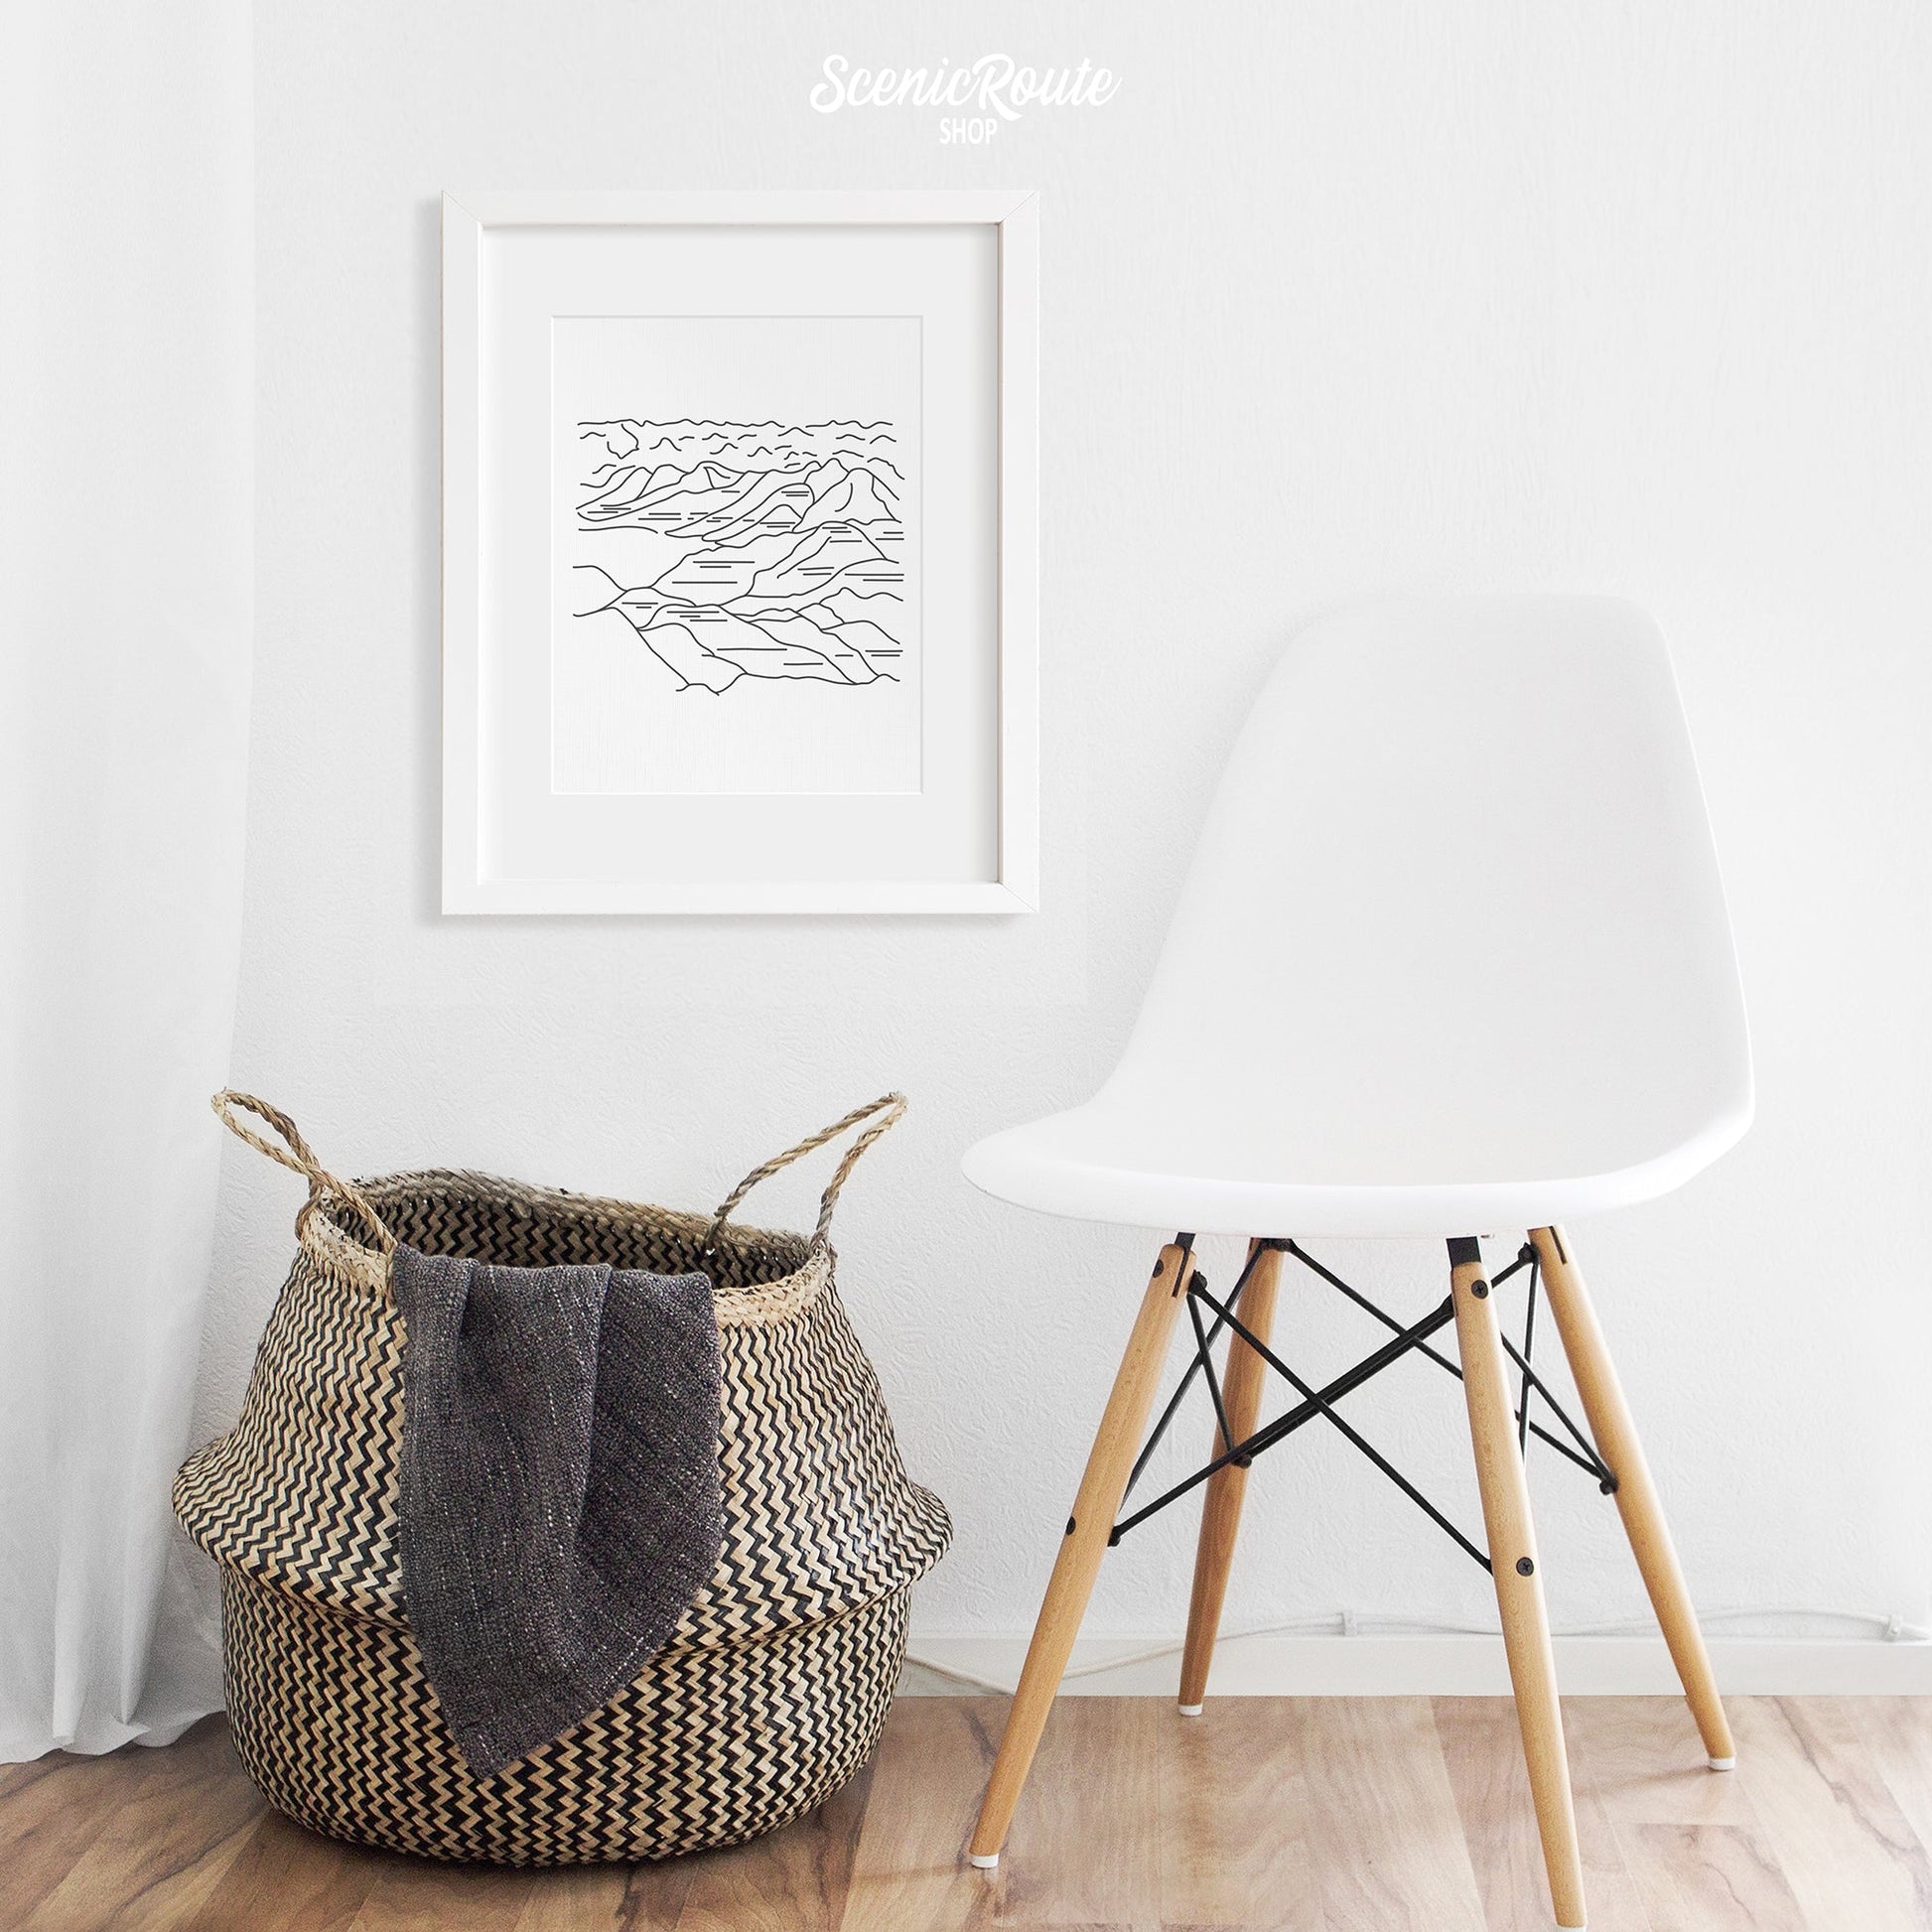
[[[156,1627],[240,947],[251,249],[245,0],[8,8],[0,1760],[220,1702]]]

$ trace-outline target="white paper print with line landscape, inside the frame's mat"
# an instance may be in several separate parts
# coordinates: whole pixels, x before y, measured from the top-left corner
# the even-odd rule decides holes
[[[923,784],[918,317],[558,317],[551,788]]]

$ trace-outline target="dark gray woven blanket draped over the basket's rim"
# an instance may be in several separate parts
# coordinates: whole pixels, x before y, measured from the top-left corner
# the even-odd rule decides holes
[[[404,1604],[495,1772],[628,1685],[717,1567],[711,1283],[398,1246],[394,1287]]]

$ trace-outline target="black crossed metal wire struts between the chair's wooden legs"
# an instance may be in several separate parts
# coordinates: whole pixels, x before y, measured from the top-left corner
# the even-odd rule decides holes
[[[1175,1244],[1186,1252],[1192,1252],[1194,1236],[1177,1235]],[[1333,1381],[1325,1383],[1320,1389],[1316,1389],[1300,1376],[1296,1376],[1294,1370],[1289,1368],[1289,1364],[1283,1362],[1281,1356],[1275,1354],[1275,1350],[1269,1349],[1267,1343],[1262,1341],[1260,1335],[1256,1335],[1235,1312],[1240,1306],[1242,1291],[1248,1287],[1248,1279],[1252,1277],[1256,1264],[1269,1250],[1293,1256],[1296,1262],[1302,1264],[1302,1267],[1306,1267],[1312,1275],[1316,1275],[1316,1279],[1325,1281],[1331,1289],[1335,1289],[1350,1302],[1354,1302],[1356,1308],[1362,1308],[1366,1314],[1374,1316],[1385,1329],[1391,1331],[1389,1341],[1385,1341],[1374,1352],[1362,1356],[1362,1360],[1356,1362],[1354,1368],[1345,1370]],[[1538,1260],[1536,1248],[1530,1242],[1524,1242],[1517,1258],[1505,1269],[1490,1277],[1490,1287],[1499,1289],[1505,1281],[1513,1279],[1515,1275],[1520,1275],[1524,1269],[1528,1269],[1530,1275],[1530,1293],[1522,1316],[1522,1347],[1519,1349],[1507,1335],[1503,1335],[1503,1349],[1509,1354],[1511,1362],[1515,1362],[1517,1372],[1520,1374],[1520,1393],[1515,1410],[1519,1449],[1526,1451],[1530,1437],[1534,1435],[1538,1441],[1548,1443],[1559,1455],[1567,1457],[1580,1470],[1594,1476],[1598,1488],[1605,1495],[1611,1495],[1617,1488],[1617,1478],[1611,1472],[1609,1464],[1598,1453],[1596,1443],[1580,1428],[1577,1428],[1569,1412],[1549,1393],[1549,1387],[1530,1366],[1536,1349],[1536,1302],[1542,1285],[1542,1264]],[[1200,1484],[1208,1482],[1208,1478],[1213,1476],[1217,1470],[1223,1470],[1229,1464],[1246,1468],[1258,1455],[1262,1455],[1267,1449],[1273,1449],[1277,1443],[1285,1443],[1296,1430],[1320,1418],[1331,1424],[1347,1443],[1350,1443],[1354,1449],[1360,1449],[1360,1453],[1368,1457],[1368,1461],[1374,1463],[1376,1468],[1379,1468],[1381,1474],[1387,1476],[1389,1482],[1393,1482],[1395,1488],[1401,1490],[1403,1495],[1406,1495],[1408,1501],[1414,1503],[1439,1530],[1443,1530],[1457,1544],[1459,1549],[1474,1557],[1484,1569],[1490,1569],[1490,1557],[1474,1542],[1470,1542],[1470,1538],[1464,1536],[1455,1526],[1455,1522],[1451,1522],[1449,1517],[1445,1517],[1379,1449],[1376,1449],[1376,1445],[1370,1443],[1360,1430],[1345,1422],[1335,1408],[1335,1405],[1343,1401],[1347,1395],[1352,1395],[1364,1383],[1374,1381],[1376,1376],[1379,1376],[1385,1368],[1391,1368],[1393,1364],[1401,1362],[1403,1356],[1408,1354],[1424,1356],[1437,1368],[1445,1368],[1451,1376],[1457,1378],[1457,1381],[1461,1381],[1463,1370],[1455,1362],[1451,1362],[1449,1356],[1445,1356],[1441,1350],[1430,1347],[1430,1339],[1455,1320],[1455,1300],[1451,1296],[1443,1296],[1443,1300],[1435,1308],[1432,1308],[1420,1321],[1403,1323],[1395,1316],[1391,1316],[1385,1308],[1378,1308],[1376,1302],[1372,1302],[1366,1294],[1362,1294],[1360,1289],[1350,1287],[1333,1269],[1323,1267],[1321,1262],[1318,1262],[1312,1254],[1304,1252],[1298,1242],[1258,1240],[1250,1248],[1248,1262],[1242,1267],[1240,1279],[1235,1283],[1227,1300],[1215,1296],[1213,1291],[1208,1287],[1208,1277],[1202,1275],[1200,1269],[1194,1269],[1188,1277],[1186,1302],[1188,1302],[1188,1321],[1194,1329],[1194,1358],[1188,1362],[1186,1372],[1180,1378],[1180,1385],[1169,1397],[1167,1406],[1161,1410],[1159,1420],[1153,1424],[1153,1430],[1148,1435],[1146,1447],[1140,1451],[1140,1457],[1134,1463],[1132,1474],[1126,1478],[1126,1495],[1134,1493],[1134,1486],[1140,1482],[1142,1474],[1148,1468],[1148,1463],[1153,1459],[1153,1451],[1159,1449],[1161,1439],[1167,1435],[1169,1424],[1180,1412],[1180,1405],[1186,1399],[1188,1389],[1194,1387],[1196,1378],[1206,1378],[1208,1381],[1208,1395],[1209,1401],[1213,1403],[1221,1453],[1211,1463],[1206,1463],[1202,1464],[1202,1468],[1194,1470],[1192,1476],[1186,1476],[1182,1482],[1177,1482],[1171,1490],[1165,1490],[1151,1503],[1144,1503],[1130,1517],[1121,1517],[1113,1526],[1113,1534],[1107,1538],[1109,1546],[1119,1544],[1128,1530],[1140,1528],[1142,1522],[1146,1522],[1150,1517],[1159,1515],[1163,1509],[1167,1509],[1169,1503],[1179,1503],[1182,1495],[1186,1495],[1190,1490],[1200,1488]],[[1208,1316],[1211,1316],[1213,1320],[1209,1321]],[[1236,1339],[1244,1343],[1277,1376],[1281,1376],[1291,1389],[1294,1389],[1296,1397],[1300,1397],[1293,1408],[1287,1408],[1283,1414],[1275,1416],[1273,1422],[1264,1422],[1260,1428],[1254,1430],[1254,1434],[1242,1437],[1240,1441],[1233,1439],[1235,1432],[1229,1426],[1227,1403],[1221,1395],[1221,1372],[1215,1368],[1215,1358],[1213,1358],[1215,1343],[1221,1339],[1223,1333],[1231,1337],[1229,1349],[1233,1349]],[[1544,1406],[1549,1410],[1551,1418],[1561,1426],[1563,1435],[1557,1435],[1555,1432],[1544,1428],[1542,1422],[1534,1422],[1530,1418],[1532,1395],[1542,1397]],[[1569,1437],[1567,1441],[1565,1435]],[[1072,1522],[1068,1522],[1066,1528],[1072,1530]]]

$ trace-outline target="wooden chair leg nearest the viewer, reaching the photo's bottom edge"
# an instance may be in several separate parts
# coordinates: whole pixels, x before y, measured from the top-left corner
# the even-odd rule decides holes
[[[1463,1393],[1468,1401],[1468,1435],[1476,1451],[1476,1482],[1482,1488],[1482,1520],[1490,1536],[1495,1605],[1503,1617],[1503,1648],[1509,1654],[1509,1683],[1517,1694],[1522,1756],[1530,1768],[1536,1830],[1544,1843],[1544,1868],[1549,1874],[1549,1903],[1555,1907],[1559,1926],[1578,1928],[1584,1922],[1584,1905],[1577,1812],[1571,1803],[1569,1756],[1563,1748],[1563,1714],[1557,1708],[1549,1617],[1544,1611],[1544,1584],[1536,1569],[1530,1486],[1517,1447],[1501,1329],[1476,1242],[1451,1240],[1449,1260]]]

